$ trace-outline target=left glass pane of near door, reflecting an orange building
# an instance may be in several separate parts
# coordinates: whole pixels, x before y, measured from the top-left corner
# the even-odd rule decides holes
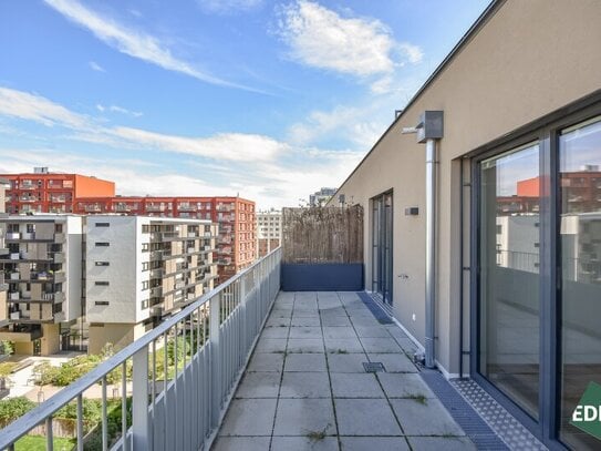
[[[539,386],[539,146],[480,164],[480,368],[533,418]]]

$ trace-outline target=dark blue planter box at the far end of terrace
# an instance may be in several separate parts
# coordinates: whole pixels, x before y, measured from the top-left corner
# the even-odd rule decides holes
[[[362,263],[282,264],[282,291],[361,291]]]

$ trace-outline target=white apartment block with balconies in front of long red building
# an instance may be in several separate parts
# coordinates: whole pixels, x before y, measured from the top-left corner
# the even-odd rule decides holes
[[[94,215],[86,227],[89,352],[118,348],[214,288],[210,221]]]

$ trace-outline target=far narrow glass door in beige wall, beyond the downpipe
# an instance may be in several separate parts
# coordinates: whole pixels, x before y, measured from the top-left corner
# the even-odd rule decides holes
[[[392,304],[392,192],[372,199],[372,291]]]

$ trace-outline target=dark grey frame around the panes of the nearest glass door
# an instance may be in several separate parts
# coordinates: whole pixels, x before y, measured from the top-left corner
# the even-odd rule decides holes
[[[469,316],[470,377],[551,450],[564,450],[559,441],[561,408],[561,247],[559,135],[562,130],[601,114],[601,92],[574,102],[466,155],[470,161]],[[511,399],[479,373],[480,337],[480,163],[495,155],[537,141],[540,148],[540,290],[539,290],[539,420],[535,421]],[[464,227],[466,225],[464,224]]]

